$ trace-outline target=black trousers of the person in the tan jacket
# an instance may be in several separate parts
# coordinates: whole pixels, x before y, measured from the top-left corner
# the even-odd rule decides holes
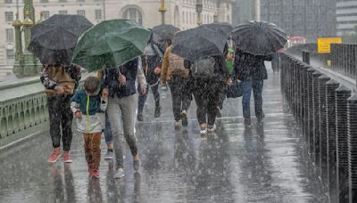
[[[181,119],[182,110],[188,110],[191,105],[191,98],[187,92],[187,81],[187,78],[181,76],[172,76],[169,81],[173,117],[176,121]]]

